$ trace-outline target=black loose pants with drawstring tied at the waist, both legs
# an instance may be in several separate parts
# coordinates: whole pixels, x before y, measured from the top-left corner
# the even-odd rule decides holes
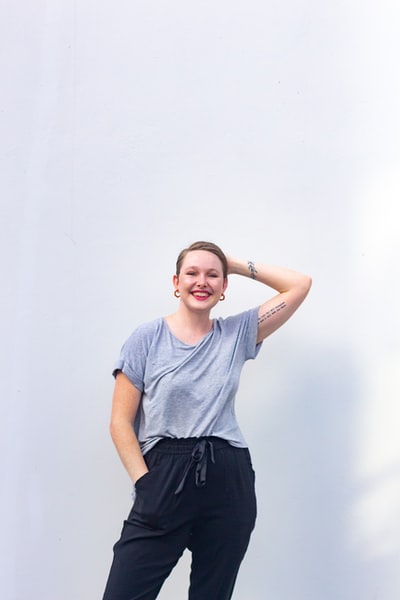
[[[229,600],[256,518],[248,449],[215,437],[165,439],[145,459],[150,470],[137,481],[103,600],[153,600],[185,548],[189,600]]]

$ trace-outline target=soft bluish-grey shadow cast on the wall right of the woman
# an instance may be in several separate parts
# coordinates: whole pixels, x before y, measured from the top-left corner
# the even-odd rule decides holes
[[[262,352],[262,368],[249,363],[244,373],[238,410],[257,473],[259,515],[236,600],[395,600],[398,589],[379,591],[393,568],[367,562],[351,539],[360,494],[359,361],[343,348],[288,350],[284,336]],[[384,493],[383,485],[377,479],[375,493]]]

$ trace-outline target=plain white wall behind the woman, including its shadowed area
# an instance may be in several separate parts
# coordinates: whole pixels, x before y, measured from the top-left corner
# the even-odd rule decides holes
[[[398,600],[397,3],[1,12],[2,598],[101,598],[130,505],[111,367],[206,238],[314,279],[243,373],[259,518],[235,599]],[[264,294],[232,278],[220,314]]]

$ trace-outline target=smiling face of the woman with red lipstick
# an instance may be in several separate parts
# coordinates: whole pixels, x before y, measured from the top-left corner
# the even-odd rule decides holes
[[[173,284],[181,299],[191,308],[210,310],[219,302],[228,280],[224,279],[222,263],[212,252],[193,250],[183,259],[181,271]]]

